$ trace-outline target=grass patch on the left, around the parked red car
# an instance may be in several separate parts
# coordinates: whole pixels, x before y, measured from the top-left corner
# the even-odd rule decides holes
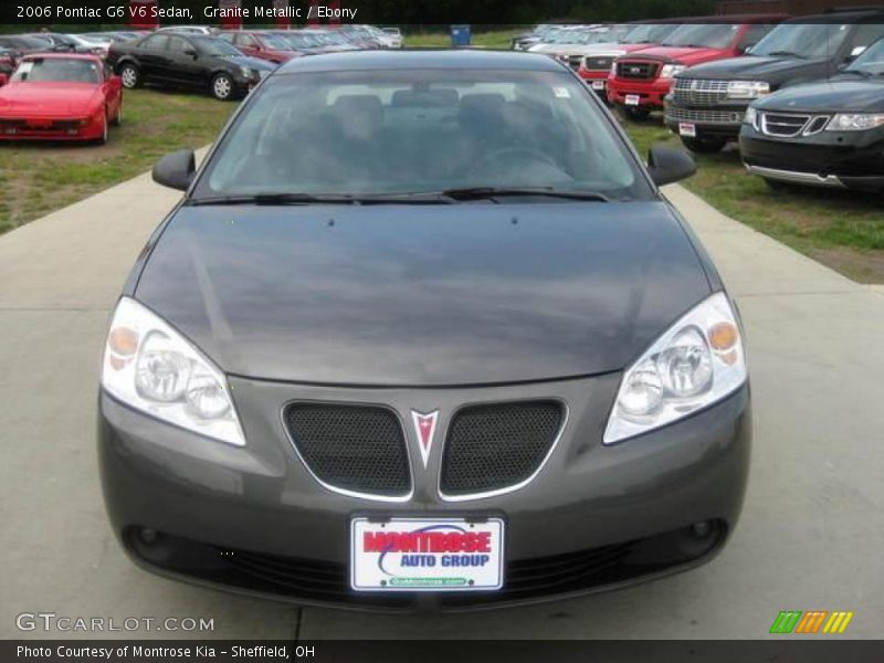
[[[105,146],[0,144],[0,233],[211,143],[234,108],[198,94],[126,91],[123,126]]]

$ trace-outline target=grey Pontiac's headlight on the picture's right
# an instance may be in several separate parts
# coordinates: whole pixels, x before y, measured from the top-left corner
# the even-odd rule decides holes
[[[739,326],[724,293],[695,306],[623,373],[604,429],[613,444],[693,414],[746,382]]]

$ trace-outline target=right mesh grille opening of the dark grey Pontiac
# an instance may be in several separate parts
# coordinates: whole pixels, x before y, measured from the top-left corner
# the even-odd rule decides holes
[[[557,401],[471,406],[457,411],[442,452],[440,491],[465,496],[530,478],[551,450],[562,419]]]

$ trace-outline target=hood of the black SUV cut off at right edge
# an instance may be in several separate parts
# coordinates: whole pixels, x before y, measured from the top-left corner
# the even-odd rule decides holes
[[[796,85],[757,103],[766,110],[812,110],[842,113],[884,112],[884,81],[836,76],[821,83]]]

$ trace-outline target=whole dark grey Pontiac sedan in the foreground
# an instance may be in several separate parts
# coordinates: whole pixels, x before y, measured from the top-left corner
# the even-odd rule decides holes
[[[737,311],[567,66],[293,60],[116,305],[99,456],[126,551],[301,603],[464,610],[696,566],[739,515]]]

